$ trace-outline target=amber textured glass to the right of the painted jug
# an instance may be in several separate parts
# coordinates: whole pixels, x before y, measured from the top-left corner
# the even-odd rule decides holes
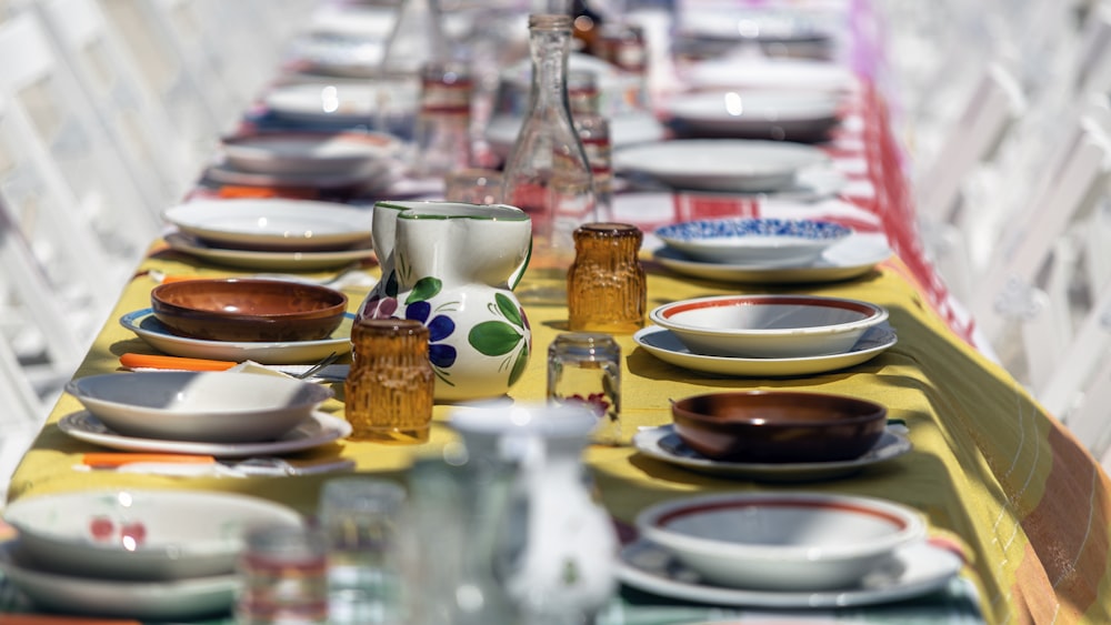
[[[631,333],[644,324],[648,283],[638,258],[641,231],[628,223],[588,223],[574,231],[567,274],[568,325],[574,332]]]

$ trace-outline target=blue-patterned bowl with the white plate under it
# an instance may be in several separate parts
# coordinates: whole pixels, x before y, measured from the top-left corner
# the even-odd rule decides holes
[[[769,212],[785,213],[791,208]],[[653,234],[662,243],[653,251],[653,260],[677,273],[723,282],[849,280],[872,271],[892,254],[883,234],[840,224],[835,218],[690,220],[657,228]]]

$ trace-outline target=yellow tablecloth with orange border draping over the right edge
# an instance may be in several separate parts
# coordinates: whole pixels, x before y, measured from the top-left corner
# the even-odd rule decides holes
[[[202,269],[160,248],[141,269],[173,274],[228,274]],[[678,299],[735,292],[765,292],[669,274],[649,268],[649,306]],[[374,272],[377,270],[369,270]],[[842,283],[804,285],[797,292],[861,299],[887,306],[899,335],[895,346],[855,367],[820,375],[780,379],[705,376],[657,360],[619,336],[624,355],[622,427],[670,422],[669,400],[714,389],[800,389],[855,395],[888,406],[903,420],[913,452],[843,480],[799,485],[755,484],[714,478],[670,466],[631,446],[592,447],[592,467],[604,505],[631,521],[649,503],[692,492],[791,488],[887,497],[921,510],[934,535],[950,538],[969,557],[967,574],[979,585],[992,622],[1111,622],[1108,568],[1111,484],[1098,464],[997,365],[957,339],[889,261],[865,276]],[[124,352],[156,353],[121,327],[117,319],[149,305],[154,282],[139,274],[127,285],[77,376],[119,369]],[[782,292],[795,292],[782,290]],[[362,293],[353,292],[354,310]],[[565,329],[560,308],[527,309],[533,329],[528,371],[511,391],[517,400],[539,401],[546,387],[546,352]],[[339,401],[327,411],[342,412]],[[103,486],[217,488],[287,502],[306,513],[316,506],[327,476],[281,478],[182,478],[79,472],[80,455],[94,446],[59,431],[62,416],[80,410],[62,396],[11,483],[10,498]],[[414,453],[434,450],[452,434],[442,426],[451,407],[438,405],[431,440],[420,446],[339,442],[309,456],[342,454],[358,471],[401,478]]]

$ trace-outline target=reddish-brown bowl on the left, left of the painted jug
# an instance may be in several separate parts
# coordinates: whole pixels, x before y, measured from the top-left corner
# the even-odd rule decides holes
[[[150,303],[174,334],[278,343],[327,339],[343,321],[348,299],[327,286],[231,278],[160,284],[150,292]]]

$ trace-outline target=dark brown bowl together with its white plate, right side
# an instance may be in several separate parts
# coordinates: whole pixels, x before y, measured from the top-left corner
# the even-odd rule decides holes
[[[907,427],[875,402],[817,392],[734,391],[674,400],[672,423],[642,427],[648,457],[729,480],[842,478],[911,451]]]

